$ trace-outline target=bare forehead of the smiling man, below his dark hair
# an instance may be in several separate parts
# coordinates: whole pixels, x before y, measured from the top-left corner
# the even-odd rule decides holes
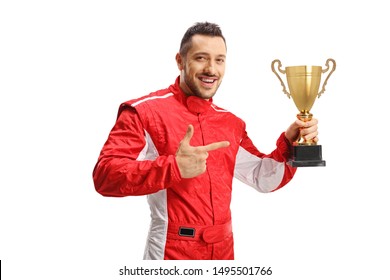
[[[211,55],[226,56],[226,45],[221,37],[197,34],[192,37],[191,48],[188,52],[204,52]]]

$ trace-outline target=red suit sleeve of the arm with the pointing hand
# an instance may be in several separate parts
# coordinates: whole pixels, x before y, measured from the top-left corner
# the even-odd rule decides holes
[[[160,156],[137,112],[126,107],[104,144],[93,170],[103,196],[145,195],[181,180],[174,155]]]

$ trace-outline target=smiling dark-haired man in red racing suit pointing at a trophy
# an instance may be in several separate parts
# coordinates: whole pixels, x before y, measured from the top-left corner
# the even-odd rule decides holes
[[[301,133],[317,141],[317,120],[296,120],[271,154],[257,150],[245,123],[213,103],[225,72],[218,25],[197,23],[176,55],[167,89],[123,103],[93,172],[104,196],[148,195],[144,259],[233,259],[233,177],[272,192],[293,177],[286,164]]]

